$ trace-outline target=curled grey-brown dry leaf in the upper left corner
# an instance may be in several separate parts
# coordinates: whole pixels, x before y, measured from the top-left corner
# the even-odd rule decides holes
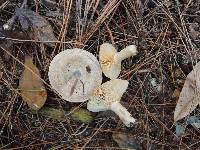
[[[33,33],[28,32],[31,38],[44,42],[48,46],[55,46],[57,38],[54,35],[53,28],[43,16],[29,9],[16,8],[12,18],[4,24],[4,29],[10,30],[16,19],[19,20],[23,30],[32,29]]]

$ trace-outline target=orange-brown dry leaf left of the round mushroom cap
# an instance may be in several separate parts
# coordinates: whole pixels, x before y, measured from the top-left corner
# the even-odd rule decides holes
[[[23,100],[30,108],[38,110],[44,105],[47,98],[47,92],[41,82],[40,72],[33,64],[32,57],[25,57],[25,66],[30,68],[32,71],[25,68],[19,81],[20,93]]]

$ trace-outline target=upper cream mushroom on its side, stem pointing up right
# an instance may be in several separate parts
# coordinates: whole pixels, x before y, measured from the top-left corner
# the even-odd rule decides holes
[[[100,46],[99,59],[103,73],[110,79],[116,79],[121,71],[121,61],[136,54],[135,45],[129,45],[117,52],[112,44],[102,44]]]

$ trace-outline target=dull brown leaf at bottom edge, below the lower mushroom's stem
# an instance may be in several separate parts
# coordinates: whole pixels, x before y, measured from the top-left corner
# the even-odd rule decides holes
[[[133,136],[125,133],[113,133],[112,138],[115,142],[117,142],[120,148],[131,150],[142,149]]]

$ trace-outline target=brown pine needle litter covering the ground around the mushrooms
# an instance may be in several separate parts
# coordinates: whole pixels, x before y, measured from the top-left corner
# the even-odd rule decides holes
[[[199,0],[26,2],[0,0],[0,149],[200,147],[197,126],[187,123],[180,135],[174,123],[179,93],[200,58]],[[40,71],[47,90],[44,106],[71,113],[72,108],[86,108],[86,103],[59,98],[49,85],[49,63],[60,51],[74,47],[98,57],[103,42],[118,50],[137,45],[138,55],[123,61],[120,74],[129,80],[122,101],[137,124],[126,128],[111,112],[92,113],[93,119],[85,123],[58,110],[61,119],[29,110],[18,87],[27,68],[25,56],[32,56]],[[197,106],[191,115],[199,114]]]

